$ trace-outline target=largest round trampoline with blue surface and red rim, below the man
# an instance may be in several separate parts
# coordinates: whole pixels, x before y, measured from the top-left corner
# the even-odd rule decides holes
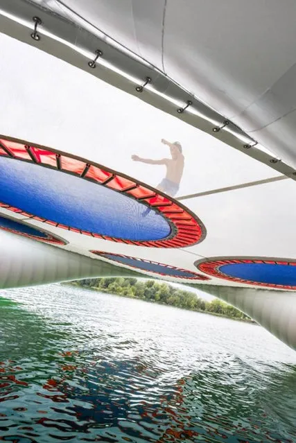
[[[0,167],[0,206],[52,226],[149,247],[184,247],[205,236],[182,205],[84,159],[1,139]]]

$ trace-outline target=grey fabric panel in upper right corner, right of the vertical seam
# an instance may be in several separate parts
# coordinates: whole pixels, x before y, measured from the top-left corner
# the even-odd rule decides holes
[[[293,0],[168,0],[164,67],[228,118],[295,63]]]

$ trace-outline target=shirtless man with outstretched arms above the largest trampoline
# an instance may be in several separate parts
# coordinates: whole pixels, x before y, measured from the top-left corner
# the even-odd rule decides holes
[[[177,191],[179,191],[184,171],[184,155],[182,154],[182,146],[179,141],[170,143],[162,139],[162,143],[170,148],[171,159],[142,159],[138,155],[132,155],[132,159],[134,162],[146,164],[164,164],[166,166],[166,177],[156,186],[156,189],[168,194],[168,196],[174,197]]]

